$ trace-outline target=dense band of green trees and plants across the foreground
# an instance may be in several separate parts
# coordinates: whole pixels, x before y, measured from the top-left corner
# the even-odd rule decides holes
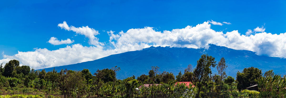
[[[212,68],[218,73],[212,73]],[[217,63],[212,56],[203,54],[195,68],[190,64],[176,76],[152,66],[148,75],[120,80],[116,79],[120,71],[117,66],[93,74],[88,69],[46,72],[19,66],[19,61],[11,60],[0,66],[0,97],[286,97],[285,75],[275,75],[273,70],[263,74],[260,69],[249,67],[237,72],[235,80],[226,75],[226,68],[224,58]],[[252,85],[258,85],[259,92],[246,90]]]

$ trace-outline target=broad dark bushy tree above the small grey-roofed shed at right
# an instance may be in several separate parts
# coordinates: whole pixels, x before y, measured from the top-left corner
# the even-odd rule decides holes
[[[262,77],[262,72],[258,68],[244,68],[242,72],[237,72],[236,83],[239,91],[257,84],[259,77]]]

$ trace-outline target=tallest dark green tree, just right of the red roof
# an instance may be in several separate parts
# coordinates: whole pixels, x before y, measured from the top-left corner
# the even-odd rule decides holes
[[[215,58],[212,56],[208,56],[207,54],[202,54],[201,58],[197,61],[196,68],[194,69],[194,75],[197,78],[196,86],[198,87],[198,94],[196,97],[198,98],[200,95],[200,91],[202,90],[202,84],[204,79],[208,79],[208,75],[210,74],[210,66],[215,64]],[[206,82],[208,80],[204,80]],[[201,96],[204,97],[204,96]]]

